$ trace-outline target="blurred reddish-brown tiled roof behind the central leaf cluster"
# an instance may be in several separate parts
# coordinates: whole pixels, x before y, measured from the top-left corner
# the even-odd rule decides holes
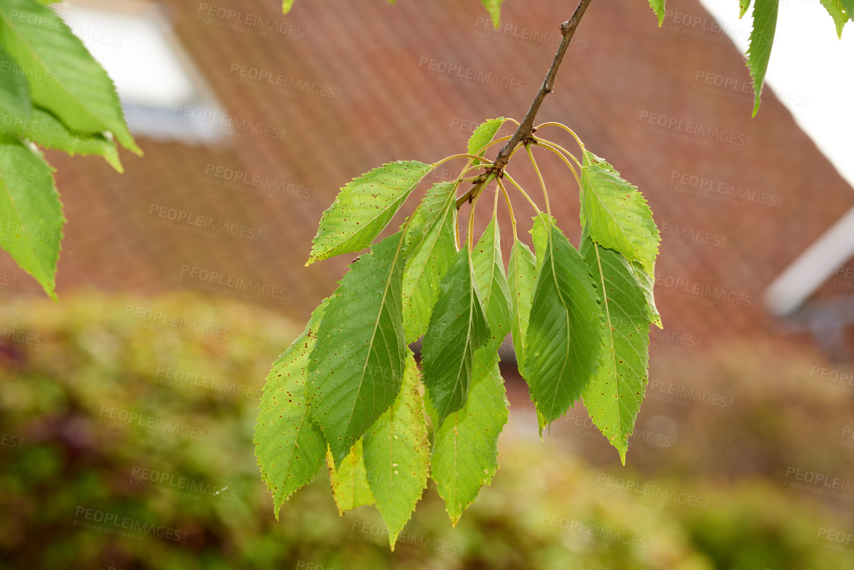
[[[751,305],[851,207],[854,196],[773,97],[751,119],[751,104],[737,100],[748,95],[731,88],[704,91],[715,88],[717,76],[749,81],[742,56],[722,32],[710,31],[711,16],[699,3],[672,4],[692,16],[691,26],[670,18],[658,28],[641,0],[594,2],[538,119],[573,127],[588,150],[646,195],[665,238],[658,306],[668,332],[717,338],[765,331],[761,307],[741,305]],[[305,319],[351,261],[341,256],[303,267],[320,214],[338,188],[383,162],[433,162],[465,150],[469,121],[521,119],[552,60],[559,23],[574,8],[555,0],[507,0],[503,19],[515,27],[493,32],[475,0],[401,0],[395,6],[384,0],[298,0],[286,17],[276,0],[231,0],[227,9],[240,13],[231,19],[215,11],[208,16],[208,5],[182,0],[165,7],[227,112],[287,129],[286,138],[242,132],[241,139],[216,147],[141,139],[145,156],[123,152],[123,175],[100,159],[50,153],[69,220],[66,234],[73,238],[61,254],[60,297],[82,285],[139,293],[180,288],[182,267],[191,266],[293,291],[290,302],[260,293],[249,301]],[[259,35],[258,27],[237,23],[247,16],[256,25],[272,21],[278,31]],[[523,85],[523,91],[448,83],[456,72],[424,77],[419,72],[430,71],[430,60],[438,69],[445,62],[463,74],[473,68],[517,79],[512,86]],[[237,85],[239,75],[231,70],[244,65],[325,85],[332,89],[325,93],[340,91],[342,97],[307,91],[293,97]],[[531,92],[524,92],[528,82]],[[644,127],[657,127],[650,120],[677,135],[695,131],[696,123],[701,134],[683,141],[646,132]],[[731,132],[740,135],[735,144],[726,142]],[[552,134],[571,148],[564,133]],[[551,156],[538,156],[553,213],[577,243],[574,179]],[[287,191],[260,197],[214,185],[206,170],[216,167],[310,189],[299,192],[308,198]],[[523,155],[509,169],[529,194],[540,195]],[[705,185],[717,191],[731,185],[740,197],[717,202],[712,198],[722,195],[709,188],[693,196],[692,184],[700,179],[712,180]],[[517,204],[518,211],[529,212]],[[153,205],[257,228],[261,237],[220,233],[211,239],[155,226]],[[488,209],[482,205],[478,213],[485,216]],[[0,272],[19,276],[14,290],[0,294],[38,292],[6,256]],[[686,290],[697,294],[690,298]],[[711,298],[721,291],[733,302]]]

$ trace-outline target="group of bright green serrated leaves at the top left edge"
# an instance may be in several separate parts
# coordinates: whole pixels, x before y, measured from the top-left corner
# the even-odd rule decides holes
[[[41,0],[0,0],[0,247],[56,299],[62,204],[39,147],[100,155],[121,172],[118,141],[141,155],[113,82]]]

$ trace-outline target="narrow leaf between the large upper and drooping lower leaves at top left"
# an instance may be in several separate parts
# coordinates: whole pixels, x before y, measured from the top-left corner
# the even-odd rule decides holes
[[[3,115],[0,115],[0,132],[27,138],[47,149],[64,150],[71,156],[103,156],[111,167],[118,172],[124,172],[119,162],[119,151],[113,141],[99,134],[69,131],[54,115],[44,109],[32,109],[31,119],[14,120],[10,121],[10,124],[12,126],[6,126]]]

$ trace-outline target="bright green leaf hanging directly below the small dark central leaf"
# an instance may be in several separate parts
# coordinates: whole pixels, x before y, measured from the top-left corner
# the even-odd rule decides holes
[[[498,355],[483,347],[475,355],[468,401],[433,436],[432,477],[453,526],[498,469],[498,436],[507,423],[507,406]]]

